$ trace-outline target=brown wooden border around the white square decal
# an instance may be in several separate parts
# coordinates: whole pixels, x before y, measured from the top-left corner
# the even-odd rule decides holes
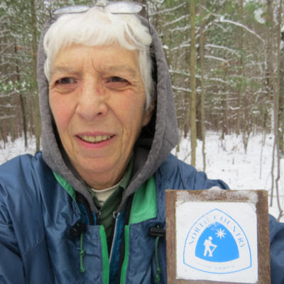
[[[207,192],[206,200],[202,192]],[[188,192],[188,200],[183,201],[216,201],[216,202],[249,202],[245,192],[255,192],[258,196],[256,203],[257,239],[258,239],[258,280],[256,284],[271,283],[270,267],[270,236],[268,220],[268,192],[266,190],[214,190],[208,195],[208,190],[165,190],[165,224],[166,224],[166,249],[167,249],[167,277],[168,284],[244,284],[236,282],[212,281],[212,280],[183,280],[176,279],[176,224],[175,204],[178,200],[178,192]],[[236,195],[236,192],[243,194]],[[182,193],[182,197],[186,195]],[[192,198],[193,197],[193,198]]]

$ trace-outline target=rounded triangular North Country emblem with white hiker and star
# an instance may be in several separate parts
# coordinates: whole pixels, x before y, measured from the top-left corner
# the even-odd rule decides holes
[[[238,222],[222,210],[212,209],[188,231],[183,263],[207,273],[235,273],[251,267],[251,248]]]

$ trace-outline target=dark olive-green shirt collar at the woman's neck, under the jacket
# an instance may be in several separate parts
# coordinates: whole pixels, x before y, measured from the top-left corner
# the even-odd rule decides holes
[[[126,170],[126,174],[124,175],[124,178],[119,182],[119,185],[117,185],[114,192],[111,193],[111,195],[107,198],[107,200],[104,202],[104,204],[99,204],[99,201],[97,200],[97,197],[95,193],[92,191],[91,188],[89,188],[89,192],[91,192],[94,204],[98,207],[99,211],[101,212],[101,218],[100,222],[104,226],[104,230],[107,235],[107,245],[110,252],[111,249],[111,243],[113,239],[114,234],[114,212],[118,209],[119,204],[121,203],[122,196],[124,195],[124,192],[126,190],[126,187],[129,185],[129,181],[131,178],[133,168],[133,158],[129,162],[129,166]]]

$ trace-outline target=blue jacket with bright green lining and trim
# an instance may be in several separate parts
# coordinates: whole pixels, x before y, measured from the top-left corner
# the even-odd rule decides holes
[[[131,209],[116,217],[109,259],[103,226],[94,214],[89,218],[41,153],[14,158],[0,167],[0,283],[149,284],[159,276],[166,283],[165,237],[148,234],[151,227],[165,227],[165,189],[215,185],[227,188],[169,155],[136,192]],[[284,283],[284,225],[272,217],[270,225],[271,281]]]

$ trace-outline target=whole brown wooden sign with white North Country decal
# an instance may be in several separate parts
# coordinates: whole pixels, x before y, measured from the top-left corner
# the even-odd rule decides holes
[[[269,284],[266,190],[166,190],[168,283]]]

